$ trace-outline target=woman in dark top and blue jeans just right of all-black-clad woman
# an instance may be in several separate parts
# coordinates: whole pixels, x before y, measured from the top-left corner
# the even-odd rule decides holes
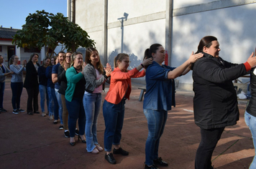
[[[42,110],[42,117],[45,117],[45,99],[47,105],[47,115],[49,114],[49,96],[47,94],[47,77],[45,75],[46,68],[50,65],[50,58],[45,57],[42,60],[42,66],[38,68],[38,77],[39,77],[39,92],[40,92],[40,105]]]

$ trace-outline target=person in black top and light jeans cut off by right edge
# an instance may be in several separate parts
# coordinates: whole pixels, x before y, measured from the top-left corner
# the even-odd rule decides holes
[[[250,78],[251,99],[244,113],[244,121],[252,132],[253,145],[256,146],[256,69],[252,69]],[[256,151],[255,151],[256,153]],[[252,160],[249,169],[256,168],[256,155]]]

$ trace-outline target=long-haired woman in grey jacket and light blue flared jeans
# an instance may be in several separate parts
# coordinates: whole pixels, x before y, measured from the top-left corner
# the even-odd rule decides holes
[[[111,67],[107,64],[104,69],[98,51],[93,47],[86,48],[86,67],[83,74],[86,79],[86,92],[83,95],[83,107],[86,112],[86,150],[98,154],[103,148],[97,139],[97,121],[101,110],[101,92],[103,84],[111,74]]]

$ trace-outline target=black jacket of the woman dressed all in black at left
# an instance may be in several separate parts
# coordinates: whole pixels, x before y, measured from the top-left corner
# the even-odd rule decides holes
[[[40,64],[37,63],[37,66],[40,67]],[[32,89],[34,87],[39,86],[38,84],[38,77],[37,77],[37,70],[32,61],[27,62],[26,65],[26,77],[24,81],[24,86],[26,89]]]

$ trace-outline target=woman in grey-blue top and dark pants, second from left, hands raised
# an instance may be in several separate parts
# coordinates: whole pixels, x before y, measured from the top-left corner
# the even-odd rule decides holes
[[[19,57],[17,55],[12,55],[9,60],[10,69],[14,74],[12,74],[11,79],[11,88],[12,88],[12,107],[14,114],[19,114],[19,112],[24,112],[20,108],[20,97],[22,96],[22,89],[23,89],[23,71],[26,70],[25,66],[27,61],[24,60],[22,65],[18,64]]]

